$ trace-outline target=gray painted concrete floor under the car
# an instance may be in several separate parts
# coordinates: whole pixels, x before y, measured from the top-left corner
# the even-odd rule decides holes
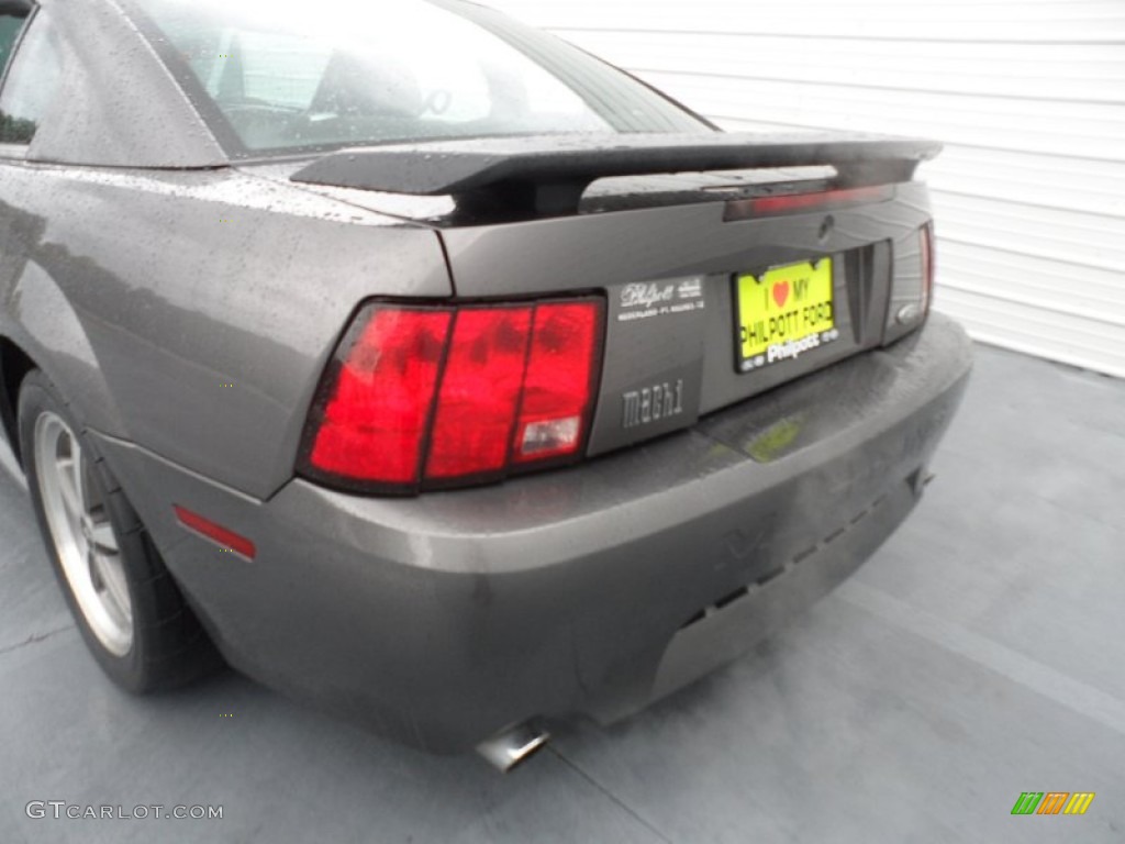
[[[933,468],[906,527],[783,634],[506,778],[232,674],[118,692],[0,473],[0,842],[1125,839],[1125,381],[982,348]],[[1012,817],[1022,791],[1097,797]],[[30,800],[224,814],[32,820]]]

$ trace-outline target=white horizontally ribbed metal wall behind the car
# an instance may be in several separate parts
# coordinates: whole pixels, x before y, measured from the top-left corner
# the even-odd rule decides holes
[[[939,307],[1125,377],[1125,0],[492,0],[731,129],[946,142]]]

